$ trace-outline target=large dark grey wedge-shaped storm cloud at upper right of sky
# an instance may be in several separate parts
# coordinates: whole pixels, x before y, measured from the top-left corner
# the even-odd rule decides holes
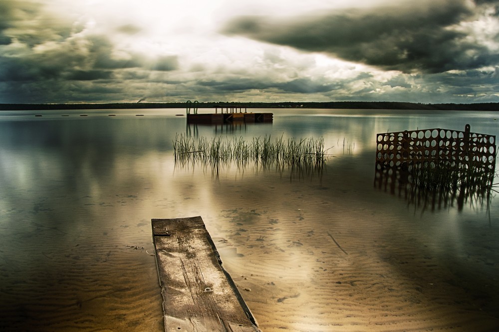
[[[466,0],[443,0],[337,10],[292,19],[249,16],[233,19],[223,31],[389,70],[438,73],[498,63],[497,53],[467,40],[464,32],[449,28],[473,19],[477,8]]]

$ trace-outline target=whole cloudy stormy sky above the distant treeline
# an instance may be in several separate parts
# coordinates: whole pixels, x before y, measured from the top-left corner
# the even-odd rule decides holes
[[[0,103],[499,102],[499,0],[0,0]]]

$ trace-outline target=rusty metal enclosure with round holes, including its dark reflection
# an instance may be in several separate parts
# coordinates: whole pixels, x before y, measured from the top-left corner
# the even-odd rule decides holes
[[[374,185],[431,210],[487,206],[496,176],[496,137],[429,129],[378,134]]]

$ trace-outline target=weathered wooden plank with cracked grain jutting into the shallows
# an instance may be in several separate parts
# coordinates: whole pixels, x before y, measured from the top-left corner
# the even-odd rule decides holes
[[[255,332],[201,217],[152,219],[165,331]]]

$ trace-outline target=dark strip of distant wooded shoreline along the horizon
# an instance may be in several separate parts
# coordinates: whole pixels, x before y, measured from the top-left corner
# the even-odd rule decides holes
[[[43,110],[96,110],[96,109],[157,109],[186,108],[185,102],[176,103],[91,103],[91,104],[0,104],[0,111]],[[194,104],[191,104],[191,109]],[[404,102],[203,102],[197,108],[324,108],[324,109],[372,109],[372,110],[435,110],[435,111],[498,111],[499,103],[472,104],[422,104]]]

